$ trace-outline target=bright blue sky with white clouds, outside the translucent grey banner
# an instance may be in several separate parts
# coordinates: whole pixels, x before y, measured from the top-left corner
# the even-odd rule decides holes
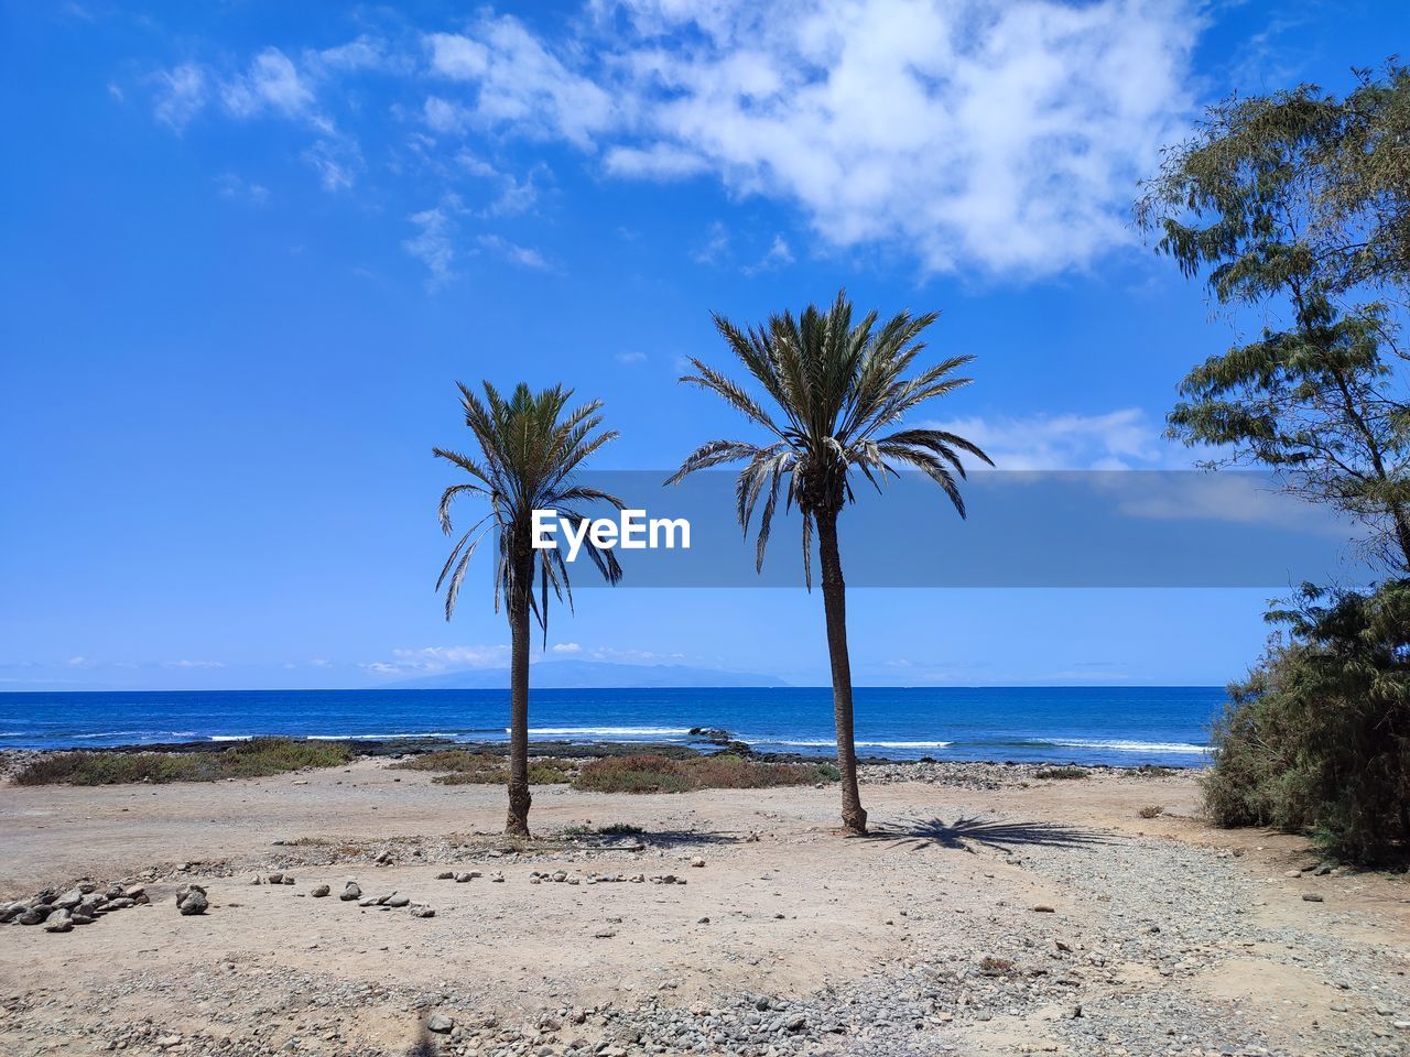
[[[1234,90],[1344,89],[1400,3],[0,6],[0,686],[501,664],[433,593],[453,382],[606,402],[605,469],[747,430],[674,385],[845,285],[939,309],[1005,468],[1172,468],[1231,335],[1129,228]],[[742,548],[740,560],[747,561]],[[1208,684],[1266,591],[857,591],[859,682]],[[826,679],[802,591],[581,596],[557,655]],[[551,654],[554,651],[550,651]]]

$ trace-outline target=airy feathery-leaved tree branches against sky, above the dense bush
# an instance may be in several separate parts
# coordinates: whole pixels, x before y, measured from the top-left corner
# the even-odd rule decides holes
[[[1169,433],[1378,528],[1410,568],[1410,409],[1393,364],[1410,279],[1410,70],[1210,109],[1136,203],[1224,306],[1276,320],[1196,366]]]

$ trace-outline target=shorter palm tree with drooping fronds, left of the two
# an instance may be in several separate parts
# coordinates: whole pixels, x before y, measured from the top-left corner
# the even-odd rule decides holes
[[[481,540],[494,533],[498,551],[495,565],[495,612],[503,599],[509,616],[509,817],[505,833],[529,836],[529,622],[537,620],[544,641],[548,636],[548,592],[572,607],[572,588],[563,551],[534,550],[532,524],[534,510],[557,510],[560,519],[581,521],[578,503],[622,500],[595,488],[578,483],[574,472],[598,448],[616,438],[612,430],[598,431],[601,400],[564,414],[571,389],[554,386],[533,393],[520,383],[505,400],[489,382],[481,400],[460,385],[465,426],[479,447],[479,461],[446,448],[431,448],[437,458],[454,462],[472,479],[451,485],[441,493],[440,524],[451,534],[450,507],[458,496],[474,495],[489,500],[489,513],[455,541],[436,589],[446,585],[446,619],[450,620],[465,579],[465,568]],[[584,537],[584,550],[609,583],[622,576],[622,567],[611,550],[594,545]]]

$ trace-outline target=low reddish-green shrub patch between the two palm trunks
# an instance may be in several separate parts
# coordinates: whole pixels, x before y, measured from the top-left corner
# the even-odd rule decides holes
[[[836,781],[835,775],[838,768],[826,764],[763,764],[728,753],[691,760],[640,754],[595,760],[578,772],[572,788],[633,793],[768,789]]]

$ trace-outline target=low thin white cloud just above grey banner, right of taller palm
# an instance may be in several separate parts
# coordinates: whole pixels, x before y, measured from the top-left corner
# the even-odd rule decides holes
[[[973,441],[998,469],[1179,468],[1193,462],[1184,448],[1160,435],[1160,427],[1139,407],[925,424]]]

